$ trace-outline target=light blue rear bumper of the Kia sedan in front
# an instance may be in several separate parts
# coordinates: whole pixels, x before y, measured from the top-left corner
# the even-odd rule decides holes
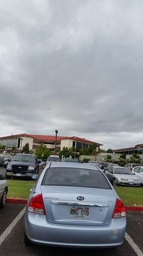
[[[25,229],[32,243],[79,248],[110,248],[123,244],[126,217],[112,219],[107,226],[49,223],[45,216],[26,211]]]

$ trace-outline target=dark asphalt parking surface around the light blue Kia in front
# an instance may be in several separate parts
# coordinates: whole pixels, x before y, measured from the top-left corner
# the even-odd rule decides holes
[[[127,234],[124,244],[117,250],[55,248],[24,244],[24,205],[6,204],[0,211],[0,255],[143,255],[143,213],[127,212]],[[20,220],[19,220],[20,219]],[[128,237],[129,236],[129,237]],[[131,239],[133,240],[131,240]],[[130,245],[132,243],[132,246]]]

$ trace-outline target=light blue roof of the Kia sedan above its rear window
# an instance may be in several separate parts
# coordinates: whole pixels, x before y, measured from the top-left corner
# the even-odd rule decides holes
[[[91,170],[97,170],[100,172],[98,167],[93,166],[91,164],[82,164],[82,163],[72,163],[72,162],[52,162],[50,164],[50,167],[59,167],[59,168],[80,168],[80,169],[91,169]]]

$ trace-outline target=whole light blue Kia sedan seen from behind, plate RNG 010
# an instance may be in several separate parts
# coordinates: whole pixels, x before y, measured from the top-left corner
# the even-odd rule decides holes
[[[123,244],[125,230],[123,202],[102,171],[80,163],[47,164],[27,202],[26,244],[110,248]]]

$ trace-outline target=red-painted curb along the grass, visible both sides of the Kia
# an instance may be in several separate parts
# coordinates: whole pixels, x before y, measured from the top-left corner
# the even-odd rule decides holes
[[[26,198],[6,198],[6,203],[9,204],[27,204]],[[126,211],[133,211],[133,212],[143,212],[143,206],[132,206],[132,205],[124,205]]]

